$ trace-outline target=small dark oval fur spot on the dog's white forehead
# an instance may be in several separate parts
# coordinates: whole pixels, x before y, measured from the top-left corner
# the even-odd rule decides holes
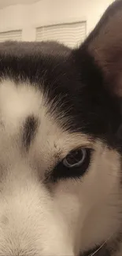
[[[24,123],[24,132],[23,132],[23,143],[26,150],[31,145],[32,139],[35,137],[35,133],[38,127],[38,120],[34,116],[27,117],[25,123]]]

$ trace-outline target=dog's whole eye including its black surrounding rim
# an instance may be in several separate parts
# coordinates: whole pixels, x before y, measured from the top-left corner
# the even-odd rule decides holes
[[[80,148],[72,150],[64,159],[60,161],[51,173],[51,180],[64,180],[68,178],[79,178],[86,173],[91,162],[90,148]]]

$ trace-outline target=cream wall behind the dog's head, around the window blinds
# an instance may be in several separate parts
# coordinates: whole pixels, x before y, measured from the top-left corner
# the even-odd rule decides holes
[[[0,32],[22,29],[22,39],[35,40],[35,28],[47,24],[87,20],[91,32],[112,0],[41,0],[0,9]]]

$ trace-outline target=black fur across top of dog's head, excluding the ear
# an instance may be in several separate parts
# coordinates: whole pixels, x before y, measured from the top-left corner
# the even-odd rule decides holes
[[[104,74],[85,46],[70,50],[57,43],[1,43],[0,60],[1,79],[30,81],[48,93],[48,101],[58,108],[58,120],[61,112],[68,118],[66,129],[120,147],[118,102],[105,90]]]

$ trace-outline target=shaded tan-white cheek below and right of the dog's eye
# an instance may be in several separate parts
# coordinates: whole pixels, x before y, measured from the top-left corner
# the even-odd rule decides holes
[[[119,227],[120,208],[115,207],[119,203],[119,170],[116,150],[96,141],[87,172],[75,180],[55,184],[54,202],[71,230],[76,254],[80,248],[102,243]]]

